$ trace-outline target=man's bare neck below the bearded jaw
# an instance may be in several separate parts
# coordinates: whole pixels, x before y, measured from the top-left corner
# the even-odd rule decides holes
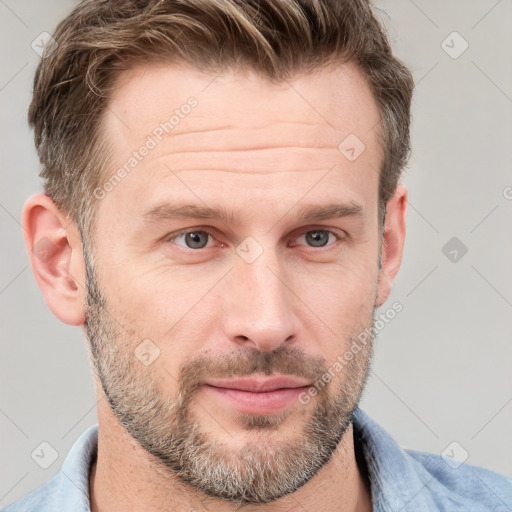
[[[91,512],[231,512],[240,505],[206,496],[181,483],[101,407],[98,410],[98,454],[90,472]],[[246,512],[315,510],[369,512],[368,479],[358,467],[352,425],[336,452],[317,475],[292,494],[272,503],[246,505]]]

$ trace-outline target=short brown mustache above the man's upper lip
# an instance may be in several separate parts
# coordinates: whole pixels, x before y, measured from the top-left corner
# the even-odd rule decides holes
[[[296,347],[281,345],[271,352],[244,349],[213,358],[196,357],[182,366],[178,380],[180,388],[190,395],[208,378],[279,373],[317,381],[327,371],[323,357],[308,356]]]

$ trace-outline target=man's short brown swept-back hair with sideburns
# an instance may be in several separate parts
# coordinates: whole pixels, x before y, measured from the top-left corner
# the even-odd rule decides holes
[[[281,81],[353,60],[380,111],[379,211],[409,156],[413,80],[393,56],[368,0],[83,0],[43,54],[28,111],[44,189],[82,236],[93,224],[93,190],[108,178],[99,136],[120,72],[148,61],[218,72],[245,66]]]

